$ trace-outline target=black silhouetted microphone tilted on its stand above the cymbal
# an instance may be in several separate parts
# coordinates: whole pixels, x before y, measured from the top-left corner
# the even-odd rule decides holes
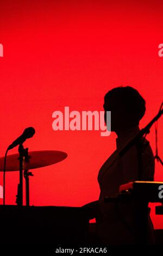
[[[33,127],[26,128],[22,135],[15,139],[12,144],[9,145],[8,150],[15,148],[17,145],[22,144],[26,139],[32,138],[35,134],[35,129]]]

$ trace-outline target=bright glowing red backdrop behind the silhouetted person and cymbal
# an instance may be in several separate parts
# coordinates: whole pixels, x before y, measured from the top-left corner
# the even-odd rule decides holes
[[[68,154],[54,166],[33,170],[32,205],[81,206],[96,200],[98,170],[116,147],[113,133],[101,137],[100,131],[53,131],[54,111],[65,106],[102,111],[109,89],[129,85],[146,99],[143,127],[162,101],[161,2],[77,2],[0,3],[0,155],[28,126],[36,130],[24,143],[29,150]],[[159,120],[160,156],[162,125]],[[147,138],[155,150],[154,127]],[[18,172],[6,176],[6,202],[15,204]],[[160,163],[155,180],[163,180]],[[154,206],[152,219],[155,228],[163,228],[163,216],[155,216]]]

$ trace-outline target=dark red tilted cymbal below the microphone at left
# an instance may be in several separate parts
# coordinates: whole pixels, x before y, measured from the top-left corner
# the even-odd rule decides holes
[[[50,166],[54,163],[58,163],[66,159],[67,154],[57,150],[41,150],[31,151],[28,153],[29,161],[23,162],[24,169],[35,169],[45,166]],[[3,172],[4,168],[4,157],[0,157],[0,172]],[[19,170],[19,154],[13,154],[7,156],[6,172],[12,172]]]

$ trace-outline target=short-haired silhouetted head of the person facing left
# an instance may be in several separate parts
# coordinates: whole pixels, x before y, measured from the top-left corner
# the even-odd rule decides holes
[[[133,87],[116,87],[104,96],[104,111],[111,111],[111,131],[139,125],[146,112],[146,101]]]

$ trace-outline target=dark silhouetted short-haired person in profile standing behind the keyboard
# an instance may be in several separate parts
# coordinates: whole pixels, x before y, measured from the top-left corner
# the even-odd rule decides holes
[[[118,193],[120,185],[130,181],[154,180],[154,162],[152,149],[146,139],[134,145],[122,157],[118,151],[139,131],[139,121],[146,111],[146,102],[132,87],[117,87],[106,93],[104,111],[111,111],[111,131],[117,135],[116,150],[107,159],[98,174],[101,193],[99,200],[87,204],[96,212],[98,241],[108,245],[135,244],[133,203],[105,203],[104,197]],[[105,120],[106,123],[106,120]],[[108,145],[106,145],[107,150]],[[141,154],[140,154],[141,153]],[[116,159],[116,161],[115,161]],[[153,243],[153,225],[148,215],[148,243]]]

